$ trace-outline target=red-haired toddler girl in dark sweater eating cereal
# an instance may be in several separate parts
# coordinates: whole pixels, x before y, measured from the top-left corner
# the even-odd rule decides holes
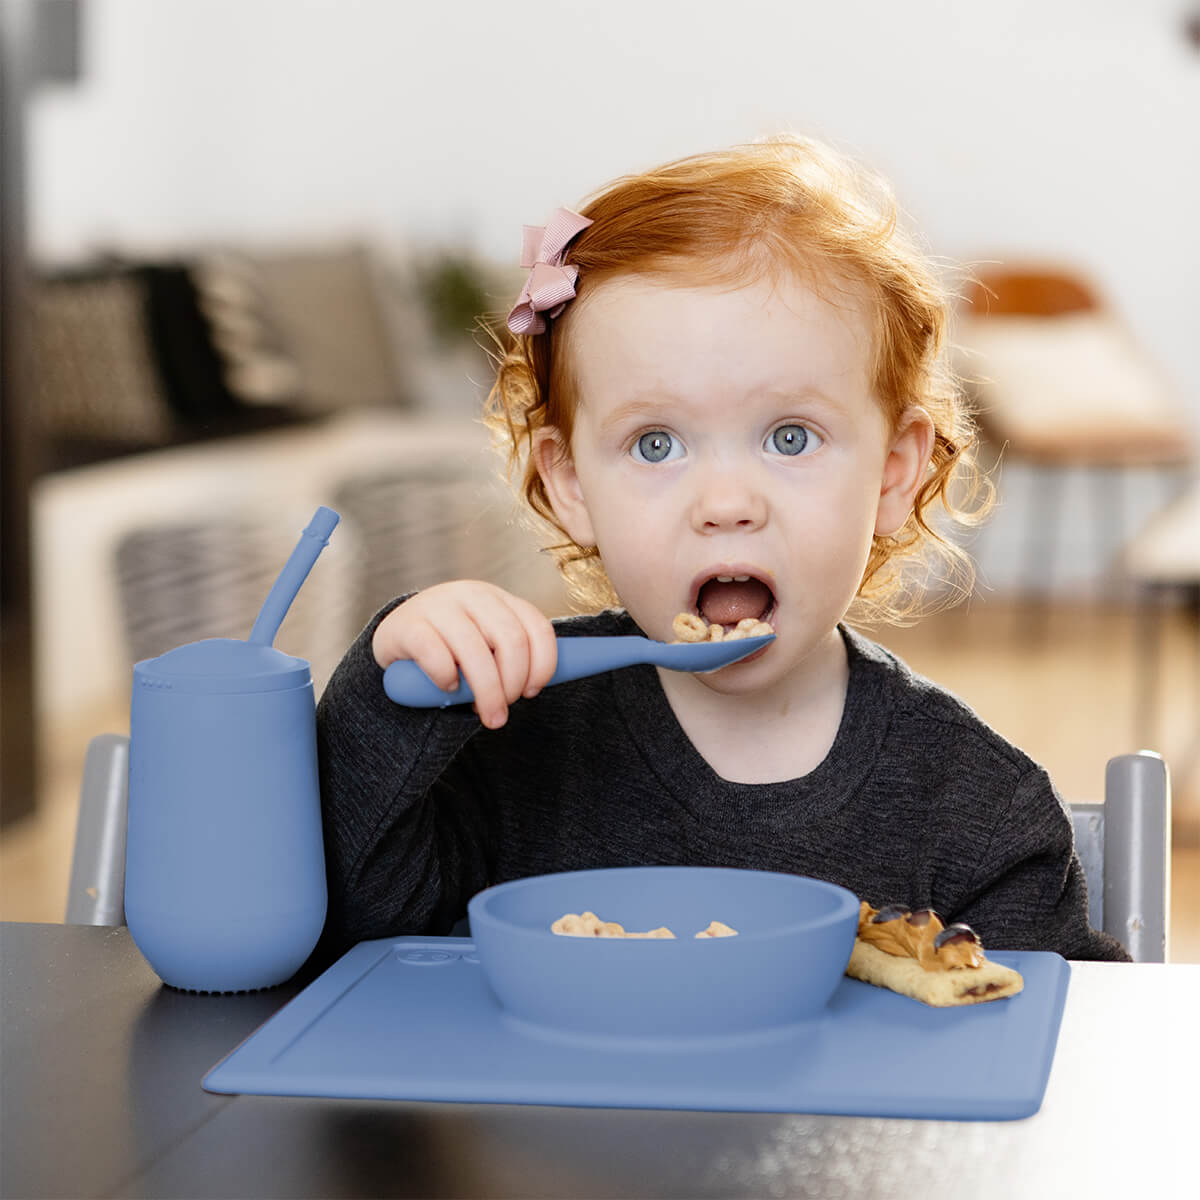
[[[372,619],[318,708],[319,953],[448,932],[505,880],[696,864],[1126,958],[1045,772],[847,624],[954,577],[936,514],[979,490],[947,301],[887,188],[775,138],[618,180],[527,229],[524,265],[487,415],[590,614],[454,581]],[[680,612],[776,637],[542,690],[558,637],[670,641]],[[474,707],[392,704],[401,658]]]

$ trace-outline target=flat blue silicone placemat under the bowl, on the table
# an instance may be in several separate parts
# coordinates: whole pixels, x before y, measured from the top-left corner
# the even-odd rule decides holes
[[[211,1092],[1013,1120],[1042,1104],[1070,968],[996,952],[1025,990],[935,1009],[856,979],[786,1037],[628,1043],[517,1028],[469,938],[362,942],[204,1079]]]

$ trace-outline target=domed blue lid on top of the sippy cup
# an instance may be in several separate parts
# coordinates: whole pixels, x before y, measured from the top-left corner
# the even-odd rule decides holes
[[[311,678],[307,659],[235,637],[188,642],[133,666],[136,684],[164,691],[284,691]]]

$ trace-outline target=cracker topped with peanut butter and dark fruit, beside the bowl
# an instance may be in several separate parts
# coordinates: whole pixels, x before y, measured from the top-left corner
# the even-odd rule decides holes
[[[1019,971],[991,962],[967,925],[943,925],[929,908],[872,908],[862,901],[846,974],[923,1004],[949,1008],[1015,996]]]

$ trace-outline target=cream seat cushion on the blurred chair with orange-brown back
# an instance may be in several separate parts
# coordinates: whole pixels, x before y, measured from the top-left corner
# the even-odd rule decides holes
[[[968,317],[956,332],[955,366],[980,422],[1013,451],[1078,462],[1189,457],[1169,386],[1112,316]]]

